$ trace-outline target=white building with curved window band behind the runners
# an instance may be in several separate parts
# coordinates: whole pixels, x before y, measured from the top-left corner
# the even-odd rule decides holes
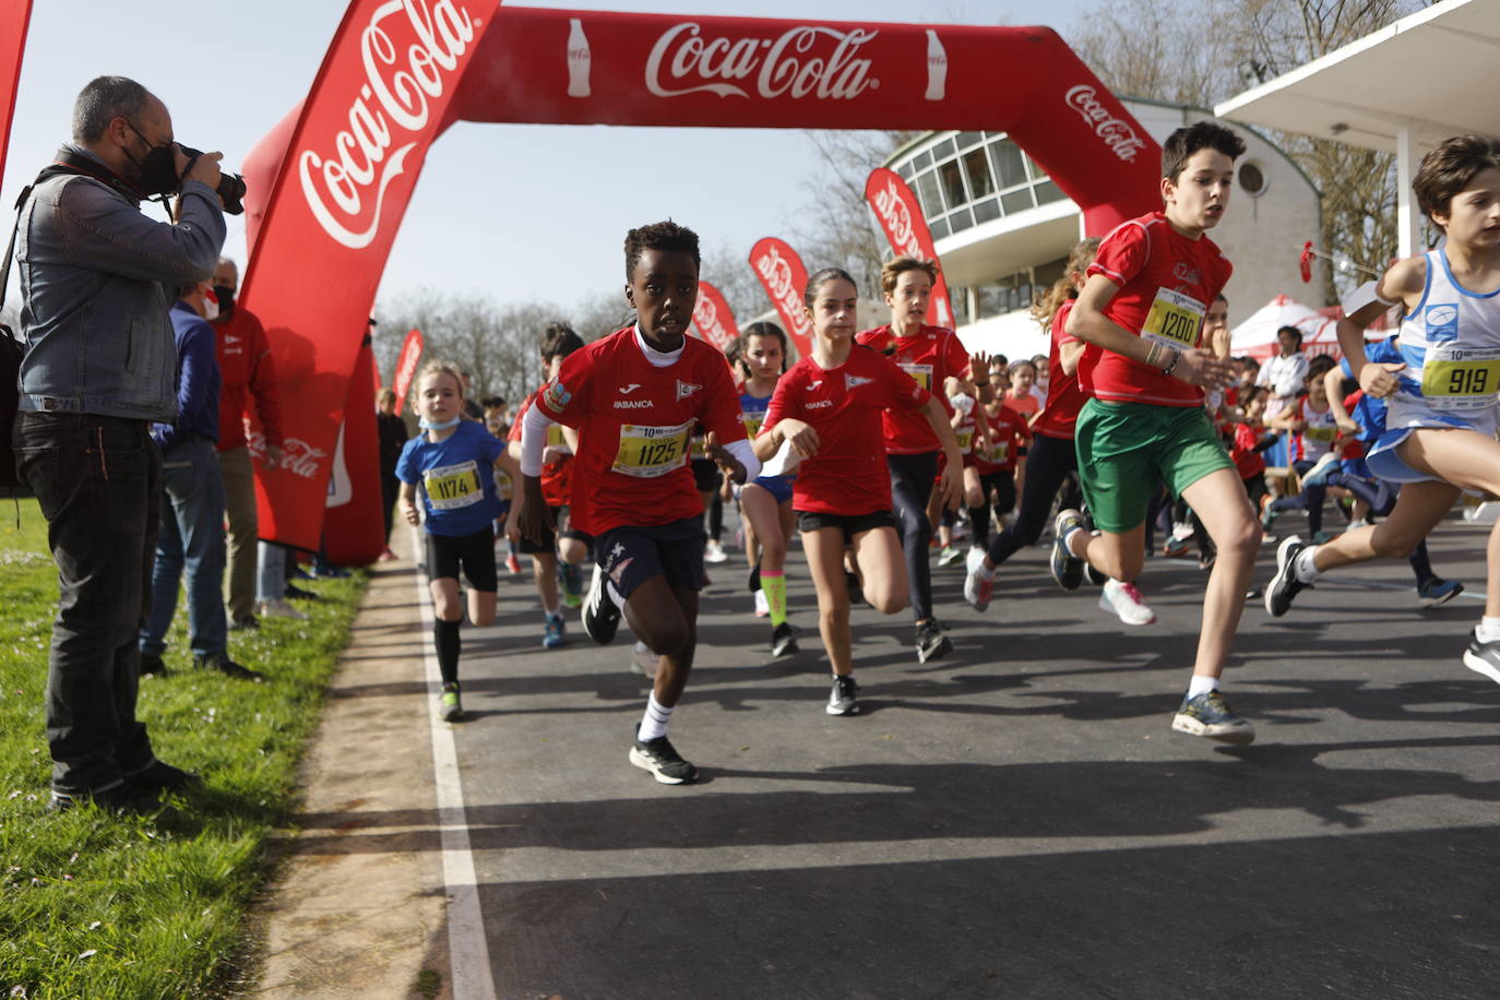
[[[1212,120],[1202,108],[1122,99],[1162,142],[1174,129]],[[1236,163],[1238,187],[1215,243],[1234,264],[1224,289],[1230,324],[1276,294],[1306,298],[1322,288],[1299,271],[1302,244],[1318,241],[1318,192],[1275,144],[1227,121],[1246,151]],[[1083,235],[1083,216],[1004,132],[930,132],[885,163],[916,192],[952,294],[958,336],[970,351],[1011,360],[1046,354],[1047,336],[1030,318],[1032,295],[1064,270]]]

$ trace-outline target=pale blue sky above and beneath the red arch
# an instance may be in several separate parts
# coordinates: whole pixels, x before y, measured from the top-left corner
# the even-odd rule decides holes
[[[516,3],[766,18],[1048,24],[1066,34],[1086,0],[604,0]],[[132,76],[172,112],[180,141],[222,150],[231,169],[308,90],[344,3],[255,0],[188,9],[144,0],[36,0],[0,205],[10,205],[68,138],[74,97],[96,75]],[[236,21],[232,15],[240,15]],[[672,216],[708,247],[747,255],[784,235],[819,163],[796,130],[704,129],[686,150],[712,148],[714,178],[684,184],[621,150],[664,147],[681,130],[458,124],[428,156],[381,297],[428,285],[500,300],[568,304],[621,283],[620,241],[632,225]],[[724,192],[734,196],[724,196]],[[244,229],[226,250],[243,262]],[[14,289],[12,289],[14,295]]]

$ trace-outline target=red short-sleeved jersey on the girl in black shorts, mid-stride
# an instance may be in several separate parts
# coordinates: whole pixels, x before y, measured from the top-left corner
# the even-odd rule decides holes
[[[792,481],[792,508],[828,514],[891,510],[886,439],[876,414],[909,417],[930,397],[910,375],[858,346],[836,369],[820,369],[812,355],[794,364],[776,384],[760,424],[765,435],[780,420],[795,418],[818,432],[818,454],[802,459]]]

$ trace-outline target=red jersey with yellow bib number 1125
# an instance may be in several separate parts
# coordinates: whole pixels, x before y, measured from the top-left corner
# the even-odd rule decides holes
[[[694,424],[724,445],[746,436],[723,354],[686,337],[676,361],[656,367],[634,327],[570,354],[537,406],[578,429],[572,516],[591,535],[704,513],[687,454]]]

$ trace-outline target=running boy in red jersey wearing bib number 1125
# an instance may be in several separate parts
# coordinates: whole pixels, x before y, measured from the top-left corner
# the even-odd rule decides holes
[[[660,657],[630,763],[662,784],[698,778],[666,736],[693,669],[704,585],[704,502],[688,465],[693,427],[705,427],[708,456],[736,483],[760,469],[724,357],[687,336],[699,261],[692,229],[674,222],[632,229],[626,300],[636,324],[568,355],[520,438],[518,523],[540,543],[552,528],[540,480],[548,424],[578,430],[572,514],[594,537],[597,561],[584,628],[608,643],[622,606],[630,628]]]

